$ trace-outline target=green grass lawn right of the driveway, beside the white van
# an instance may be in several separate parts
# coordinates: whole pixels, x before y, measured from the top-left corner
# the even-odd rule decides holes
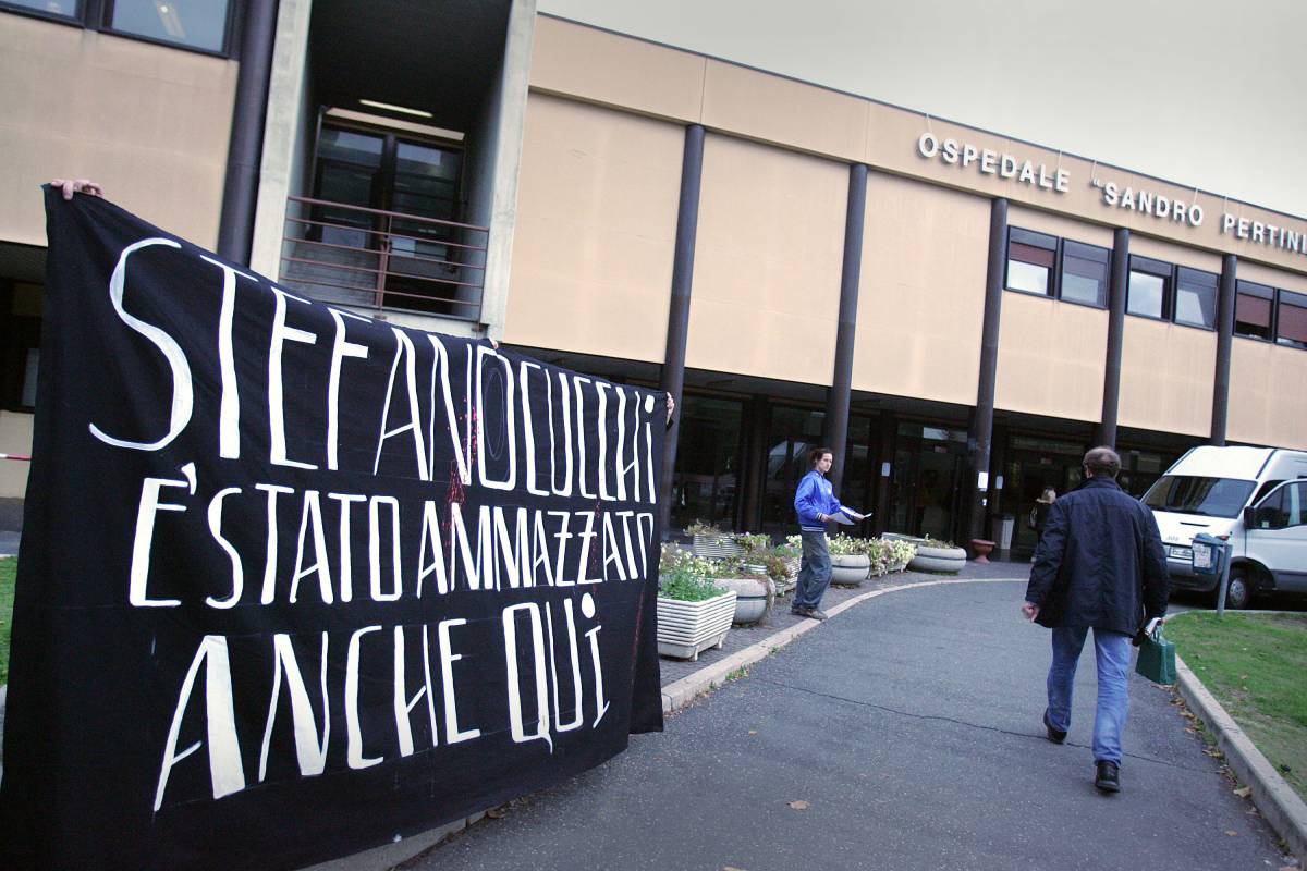
[[[1307,799],[1307,614],[1189,611],[1166,622],[1166,637]]]

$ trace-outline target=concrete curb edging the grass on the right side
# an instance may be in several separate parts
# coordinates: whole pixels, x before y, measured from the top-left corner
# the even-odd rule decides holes
[[[1179,656],[1175,657],[1175,671],[1180,697],[1216,731],[1217,747],[1226,755],[1230,769],[1252,789],[1253,804],[1285,840],[1290,851],[1299,861],[1307,862],[1307,803],[1285,782]]]

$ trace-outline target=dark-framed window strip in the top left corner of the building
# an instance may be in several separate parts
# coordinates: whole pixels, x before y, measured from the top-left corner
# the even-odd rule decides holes
[[[0,10],[216,55],[230,55],[237,8],[230,0],[0,0]]]

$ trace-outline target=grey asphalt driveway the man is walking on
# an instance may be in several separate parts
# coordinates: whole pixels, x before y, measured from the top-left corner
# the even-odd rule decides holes
[[[919,588],[810,632],[608,764],[405,868],[1277,868],[1171,704],[1131,682],[1124,791],[1097,793],[1093,646],[1065,746],[1022,584]],[[792,802],[802,802],[793,807]]]

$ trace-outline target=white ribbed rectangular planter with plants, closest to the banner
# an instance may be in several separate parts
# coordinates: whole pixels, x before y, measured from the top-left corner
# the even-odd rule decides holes
[[[735,590],[703,577],[689,559],[659,571],[657,652],[664,657],[698,659],[720,648],[735,618]]]

